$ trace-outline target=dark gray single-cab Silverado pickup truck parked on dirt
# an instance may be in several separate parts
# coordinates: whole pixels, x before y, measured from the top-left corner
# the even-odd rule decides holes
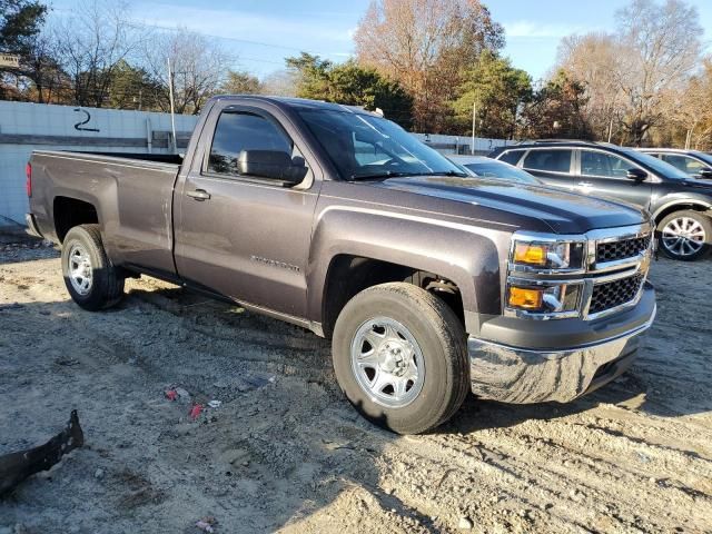
[[[215,98],[184,158],[37,151],[28,194],[79,306],[146,274],[303,326],[399,433],[468,390],[572,400],[627,368],[655,315],[644,211],[466,176],[339,105]]]

